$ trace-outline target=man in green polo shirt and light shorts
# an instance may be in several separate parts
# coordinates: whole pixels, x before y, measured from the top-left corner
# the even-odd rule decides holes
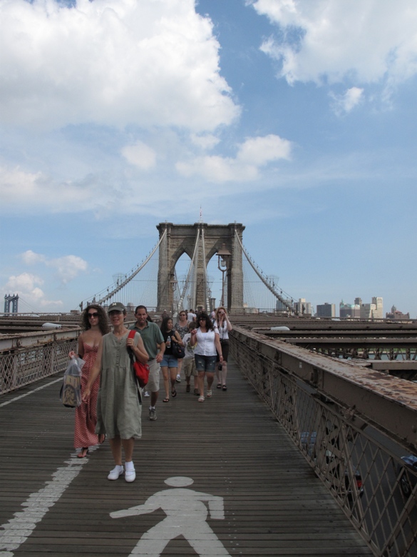
[[[145,306],[138,306],[135,309],[135,318],[136,323],[130,328],[139,331],[149,356],[149,380],[146,388],[150,391],[149,419],[154,421],[156,420],[155,405],[156,401],[158,401],[159,393],[159,364],[165,352],[165,342],[158,325],[148,321],[148,309]]]

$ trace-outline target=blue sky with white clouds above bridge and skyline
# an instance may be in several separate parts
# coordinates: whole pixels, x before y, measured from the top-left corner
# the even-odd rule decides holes
[[[159,222],[417,316],[413,0],[0,0],[0,290],[68,311]]]

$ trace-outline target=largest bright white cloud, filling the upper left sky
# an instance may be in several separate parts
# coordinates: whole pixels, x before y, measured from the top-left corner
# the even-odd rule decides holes
[[[0,121],[215,129],[240,114],[219,48],[194,0],[1,1]]]

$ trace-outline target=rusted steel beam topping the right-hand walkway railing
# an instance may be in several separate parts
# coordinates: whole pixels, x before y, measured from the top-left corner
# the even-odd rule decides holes
[[[321,356],[289,343],[235,326],[232,342],[242,343],[259,358],[314,387],[319,395],[417,450],[417,384],[366,368],[356,361]],[[238,350],[237,350],[238,352]],[[369,362],[368,362],[369,363]]]

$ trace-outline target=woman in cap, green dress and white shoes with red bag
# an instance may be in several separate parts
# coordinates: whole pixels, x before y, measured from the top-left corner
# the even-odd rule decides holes
[[[83,393],[83,401],[88,402],[91,387],[98,376],[101,376],[96,433],[107,436],[115,462],[115,468],[107,477],[109,480],[117,480],[124,471],[125,481],[132,482],[136,477],[133,448],[135,439],[142,436],[142,423],[140,391],[131,368],[128,350],[142,363],[147,363],[149,358],[139,333],[128,338],[129,331],[125,327],[126,308],[123,303],[110,303],[108,315],[113,331],[101,338],[97,358]],[[122,447],[125,468],[122,465]]]

